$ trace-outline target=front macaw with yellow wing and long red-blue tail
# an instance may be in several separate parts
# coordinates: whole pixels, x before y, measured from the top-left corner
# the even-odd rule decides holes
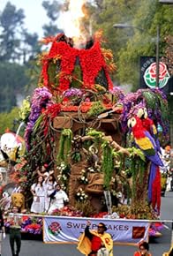
[[[161,174],[159,166],[163,166],[162,160],[157,152],[154,138],[150,132],[147,132],[139,117],[130,118],[128,120],[128,127],[132,128],[132,135],[136,145],[151,162],[148,181],[148,200],[159,214],[161,207]]]

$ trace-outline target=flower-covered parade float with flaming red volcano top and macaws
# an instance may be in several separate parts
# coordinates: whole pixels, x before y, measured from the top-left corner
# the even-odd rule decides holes
[[[156,128],[162,125],[167,136],[165,95],[159,89],[124,94],[115,87],[109,74],[116,71],[116,65],[111,51],[102,48],[101,31],[80,41],[78,48],[65,34],[42,42],[50,47],[39,56],[38,87],[20,109],[26,123],[26,154],[18,158],[10,173],[25,197],[28,215],[22,230],[42,231],[41,216],[29,215],[30,188],[36,170],[46,166],[48,171],[54,170],[56,181],[70,199],[68,206],[53,213],[61,221],[53,219],[53,226],[48,225],[51,236],[59,234],[59,222],[69,229],[70,222],[75,222],[84,229],[87,217],[94,222],[104,218],[110,227],[118,221],[122,229],[133,223],[135,227],[128,228],[133,243],[147,236],[154,220],[150,235],[156,236],[162,228],[158,220],[162,161]],[[124,221],[129,222],[125,225]],[[110,231],[117,241],[115,230]],[[123,241],[125,236],[124,232]]]

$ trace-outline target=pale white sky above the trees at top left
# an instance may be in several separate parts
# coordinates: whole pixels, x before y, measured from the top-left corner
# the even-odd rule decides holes
[[[49,22],[46,11],[41,5],[42,1],[43,0],[0,0],[0,11],[4,10],[7,2],[15,5],[17,10],[22,8],[26,15],[24,21],[28,32],[36,32],[39,34],[39,38],[42,38],[43,33],[41,26]]]

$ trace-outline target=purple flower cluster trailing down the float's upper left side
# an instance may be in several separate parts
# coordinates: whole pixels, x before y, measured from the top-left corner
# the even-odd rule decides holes
[[[34,128],[34,124],[37,118],[41,115],[41,109],[46,109],[51,102],[52,94],[50,94],[48,88],[39,87],[34,90],[34,94],[31,102],[31,113],[29,115],[29,121],[26,126],[25,139],[26,147],[29,149],[30,136]]]

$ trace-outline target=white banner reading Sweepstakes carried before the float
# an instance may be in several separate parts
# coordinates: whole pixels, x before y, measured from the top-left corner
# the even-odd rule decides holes
[[[77,243],[86,228],[87,220],[91,221],[91,230],[97,230],[103,222],[115,243],[138,244],[148,239],[150,222],[142,220],[88,219],[64,216],[45,216],[43,221],[44,243]]]

